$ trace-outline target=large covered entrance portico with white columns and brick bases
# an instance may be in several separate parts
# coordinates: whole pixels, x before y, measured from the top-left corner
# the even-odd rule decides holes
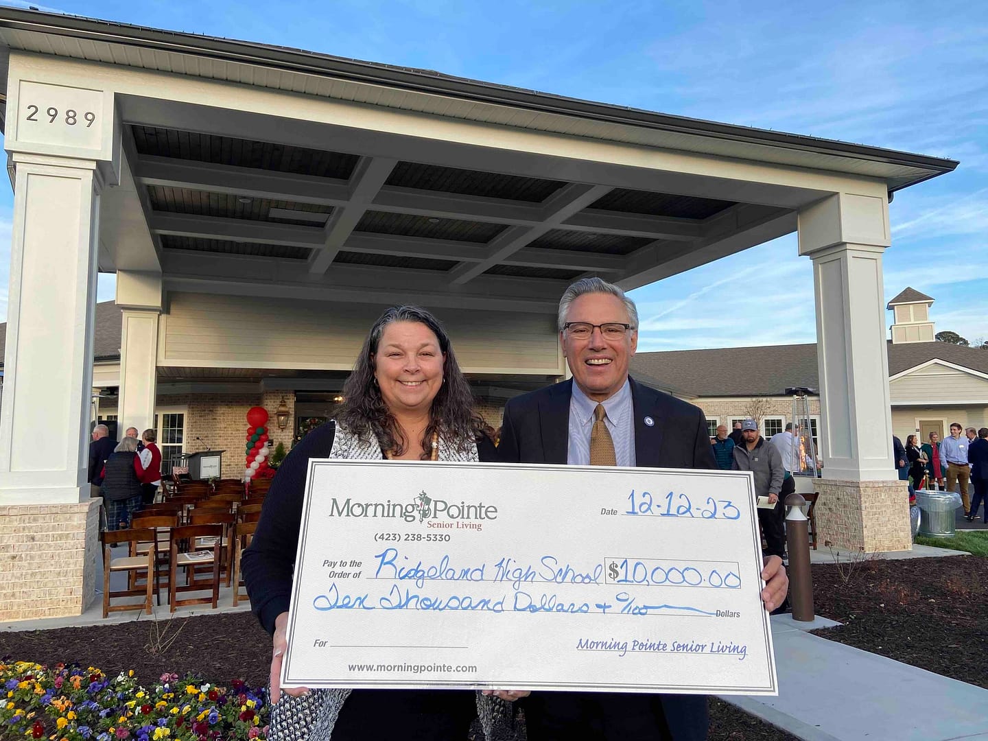
[[[554,312],[573,279],[637,288],[798,230],[821,533],[910,547],[881,256],[891,194],[955,162],[9,8],[0,44],[15,190],[0,617],[92,597],[99,271],[117,274],[119,410],[140,428],[159,377],[346,371],[395,302],[435,309],[473,377],[546,382],[565,372]]]

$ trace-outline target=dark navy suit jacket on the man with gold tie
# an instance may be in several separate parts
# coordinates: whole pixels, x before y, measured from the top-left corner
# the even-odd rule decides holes
[[[509,463],[565,463],[569,447],[569,401],[573,381],[566,380],[517,396],[504,408],[498,459]],[[639,466],[716,468],[706,418],[700,408],[631,379],[634,408],[634,456]],[[650,417],[653,425],[645,424]],[[706,738],[706,698],[655,695],[673,738]]]

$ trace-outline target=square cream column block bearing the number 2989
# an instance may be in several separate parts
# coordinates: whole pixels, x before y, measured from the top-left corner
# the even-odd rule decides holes
[[[103,148],[102,90],[24,80],[18,89],[17,140],[72,149]]]

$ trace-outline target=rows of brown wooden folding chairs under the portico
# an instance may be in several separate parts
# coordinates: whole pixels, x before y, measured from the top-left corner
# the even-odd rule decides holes
[[[225,484],[225,485],[224,485]],[[230,485],[233,484],[233,485]],[[150,614],[153,599],[161,604],[161,582],[167,580],[170,612],[184,605],[209,604],[215,609],[219,587],[233,587],[232,604],[242,593],[240,560],[257,528],[266,485],[239,481],[185,482],[164,489],[164,500],[134,513],[130,528],[101,535],[104,549],[103,617],[122,610]],[[113,557],[111,547],[126,544],[126,555]],[[179,571],[185,579],[179,584]],[[124,572],[126,588],[111,591],[110,575]],[[208,591],[209,596],[182,599],[179,594]],[[143,597],[113,604],[118,598]]]

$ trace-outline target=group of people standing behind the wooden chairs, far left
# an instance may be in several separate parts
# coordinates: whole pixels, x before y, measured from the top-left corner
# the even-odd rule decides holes
[[[161,450],[148,428],[128,427],[118,442],[107,425],[93,428],[89,444],[90,496],[103,497],[103,530],[125,530],[133,513],[154,502],[161,486]]]

